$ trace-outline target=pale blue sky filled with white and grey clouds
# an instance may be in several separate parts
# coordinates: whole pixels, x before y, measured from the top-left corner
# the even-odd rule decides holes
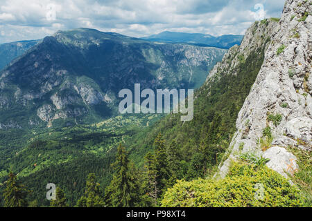
[[[131,37],[243,35],[254,21],[280,17],[283,7],[284,0],[0,0],[0,44],[73,28]]]

